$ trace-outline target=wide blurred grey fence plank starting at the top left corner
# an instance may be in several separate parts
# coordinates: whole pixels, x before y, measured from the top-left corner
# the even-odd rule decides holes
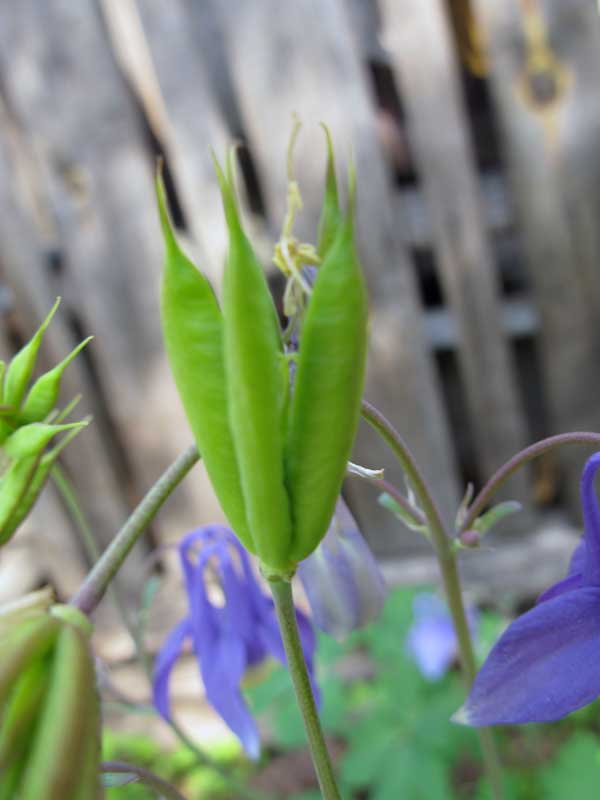
[[[160,336],[162,243],[142,130],[92,0],[0,9],[0,42],[7,92],[49,175],[65,292],[86,333],[97,334],[94,355],[137,496],[190,440]],[[161,515],[163,526],[191,523],[195,501],[191,490],[185,496]]]

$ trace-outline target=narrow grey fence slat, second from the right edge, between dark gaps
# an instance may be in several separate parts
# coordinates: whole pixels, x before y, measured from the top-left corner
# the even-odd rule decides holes
[[[524,446],[526,435],[501,326],[499,280],[484,229],[451,32],[441,0],[388,0],[383,17],[384,44],[402,89],[434,254],[457,319],[459,364],[485,477]],[[524,499],[523,473],[513,479],[510,494]]]

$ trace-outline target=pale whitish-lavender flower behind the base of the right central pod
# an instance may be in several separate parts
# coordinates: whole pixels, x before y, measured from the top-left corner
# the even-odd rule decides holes
[[[298,575],[313,622],[335,639],[368,625],[385,602],[383,576],[341,498],[325,538],[300,562]]]

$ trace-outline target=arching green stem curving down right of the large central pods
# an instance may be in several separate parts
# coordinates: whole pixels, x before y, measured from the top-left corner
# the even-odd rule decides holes
[[[366,401],[363,401],[362,404],[362,416],[377,431],[398,459],[427,518],[431,541],[442,574],[448,609],[456,631],[463,678],[469,688],[475,679],[477,665],[450,536],[417,462],[398,431],[380,411]],[[496,800],[502,800],[504,796],[502,768],[493,734],[489,728],[479,728],[478,734],[493,796]]]

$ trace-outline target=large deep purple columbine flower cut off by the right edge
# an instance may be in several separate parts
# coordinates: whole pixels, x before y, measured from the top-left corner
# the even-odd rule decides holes
[[[600,508],[583,470],[584,534],[567,577],[510,625],[481,668],[457,722],[476,727],[552,722],[600,695]]]

